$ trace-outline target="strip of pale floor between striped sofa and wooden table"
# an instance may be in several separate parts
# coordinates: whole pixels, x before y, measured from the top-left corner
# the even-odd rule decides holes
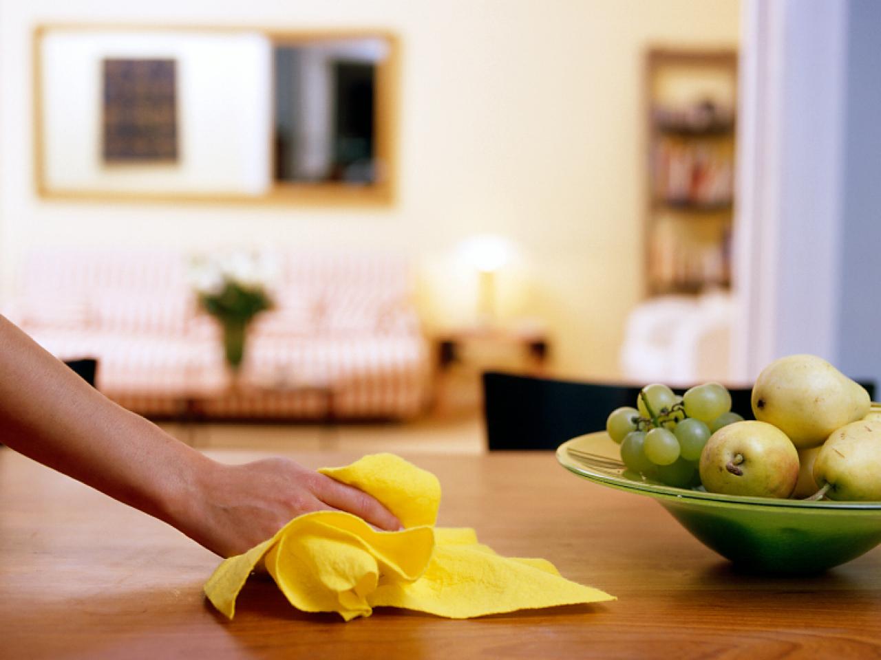
[[[198,449],[344,451],[354,453],[479,454],[483,420],[470,414],[432,415],[414,422],[322,424],[160,423]]]

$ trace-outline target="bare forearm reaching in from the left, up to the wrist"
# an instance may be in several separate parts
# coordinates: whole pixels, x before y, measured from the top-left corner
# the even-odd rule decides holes
[[[0,316],[0,438],[121,502],[175,523],[211,461],[87,385]]]

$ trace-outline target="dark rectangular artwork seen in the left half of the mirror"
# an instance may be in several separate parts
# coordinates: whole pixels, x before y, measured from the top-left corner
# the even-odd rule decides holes
[[[178,158],[176,63],[172,59],[105,59],[105,163],[167,163]]]

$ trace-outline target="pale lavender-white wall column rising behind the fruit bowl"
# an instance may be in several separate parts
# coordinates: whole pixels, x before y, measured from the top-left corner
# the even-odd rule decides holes
[[[792,353],[837,362],[847,12],[744,2],[737,378]]]

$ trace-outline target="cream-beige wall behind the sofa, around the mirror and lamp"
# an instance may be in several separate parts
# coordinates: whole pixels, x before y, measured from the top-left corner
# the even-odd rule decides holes
[[[520,248],[502,312],[546,319],[560,370],[618,371],[640,297],[641,52],[734,45],[737,0],[0,0],[0,268],[40,244],[393,246],[433,322],[468,318],[450,261],[475,232]],[[33,185],[31,30],[40,23],[374,26],[402,39],[400,191],[390,209],[42,202]]]

